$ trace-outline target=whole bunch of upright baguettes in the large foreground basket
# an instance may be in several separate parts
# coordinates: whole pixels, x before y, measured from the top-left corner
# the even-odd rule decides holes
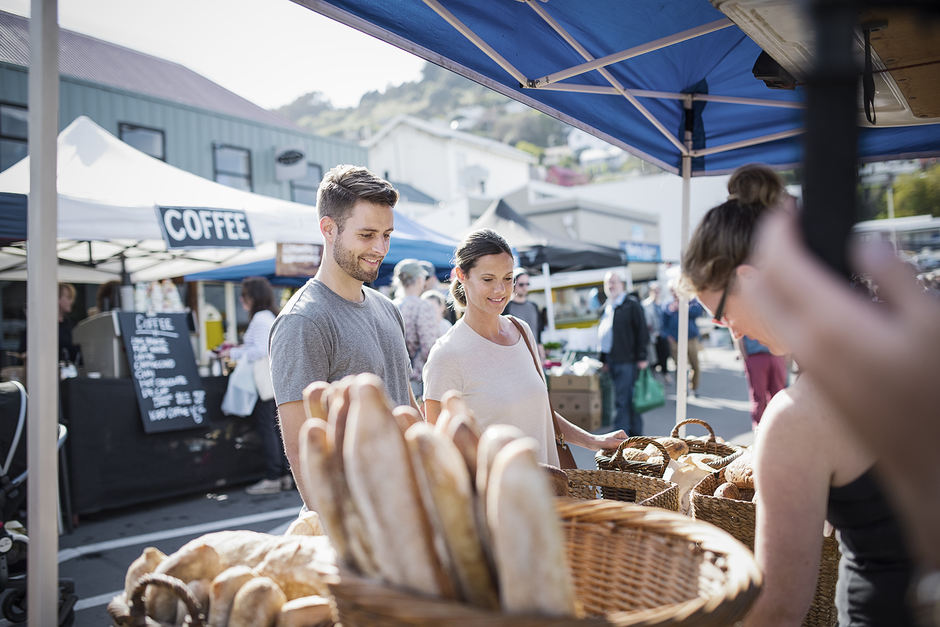
[[[432,426],[363,374],[311,384],[308,506],[342,562],[419,595],[554,617],[579,612],[549,475],[515,427],[480,432],[457,393]]]

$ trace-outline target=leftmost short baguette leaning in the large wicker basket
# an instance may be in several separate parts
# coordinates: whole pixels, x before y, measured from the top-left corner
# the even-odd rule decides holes
[[[340,558],[351,563],[349,540],[343,526],[340,496],[331,480],[330,452],[327,438],[329,425],[321,419],[311,418],[300,428],[300,472],[304,485],[312,497],[312,507],[319,515],[330,540]]]

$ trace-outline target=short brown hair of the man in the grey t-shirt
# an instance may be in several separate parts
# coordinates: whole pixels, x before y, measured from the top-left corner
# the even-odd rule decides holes
[[[398,204],[398,191],[362,166],[338,165],[320,182],[317,215],[332,218],[342,232],[352,208],[360,201],[392,208]]]

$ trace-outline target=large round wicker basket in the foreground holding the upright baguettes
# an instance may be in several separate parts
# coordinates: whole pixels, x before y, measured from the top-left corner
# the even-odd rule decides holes
[[[343,573],[327,577],[344,627],[718,627],[757,596],[753,556],[681,514],[614,501],[559,499],[585,618],[505,615],[428,599]]]

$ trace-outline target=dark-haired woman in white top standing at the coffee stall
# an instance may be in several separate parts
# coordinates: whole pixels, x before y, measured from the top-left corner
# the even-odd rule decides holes
[[[274,304],[274,290],[263,277],[249,277],[242,281],[242,308],[248,312],[248,329],[241,346],[222,345],[219,355],[233,361],[247,360],[254,363],[268,356],[268,335],[274,324],[278,308]],[[255,402],[254,417],[261,450],[265,458],[265,476],[258,483],[245,489],[248,494],[273,494],[294,487],[290,466],[284,454],[281,430],[274,413],[274,398]]]

